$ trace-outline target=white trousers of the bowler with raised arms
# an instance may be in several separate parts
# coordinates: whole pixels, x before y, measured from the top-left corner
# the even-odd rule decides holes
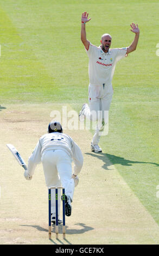
[[[92,144],[98,144],[100,140],[101,132],[104,130],[104,126],[107,124],[108,111],[111,105],[113,96],[112,84],[106,86],[105,84],[100,86],[94,86],[89,84],[88,87],[88,101],[89,105],[86,105],[84,109],[84,115],[86,118],[92,121],[97,121],[97,129],[94,133]],[[96,114],[93,114],[95,112]],[[100,114],[99,114],[100,113]],[[100,133],[100,135],[99,135]]]

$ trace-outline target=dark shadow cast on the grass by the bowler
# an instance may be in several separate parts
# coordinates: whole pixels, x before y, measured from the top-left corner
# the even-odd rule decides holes
[[[102,160],[104,162],[103,168],[106,170],[108,170],[108,167],[111,166],[112,164],[114,165],[121,164],[122,166],[132,166],[132,164],[135,164],[135,163],[148,163],[148,164],[155,164],[156,166],[159,166],[158,163],[131,161],[128,159],[124,159],[124,157],[104,154],[104,153],[85,153],[85,154],[93,157],[97,157],[98,159]]]

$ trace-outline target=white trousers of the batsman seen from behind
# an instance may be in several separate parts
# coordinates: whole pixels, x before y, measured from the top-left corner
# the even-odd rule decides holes
[[[73,200],[74,179],[71,157],[61,149],[46,150],[41,157],[47,187],[64,187],[65,194]],[[60,215],[61,190],[58,190],[58,208]],[[52,190],[51,210],[55,216],[55,190]]]

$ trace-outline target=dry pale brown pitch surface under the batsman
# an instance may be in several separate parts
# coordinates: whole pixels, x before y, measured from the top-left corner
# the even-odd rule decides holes
[[[155,244],[159,227],[104,154],[91,154],[89,131],[65,131],[84,155],[75,188],[72,216],[66,217],[66,240],[48,239],[48,191],[42,165],[31,181],[23,176],[7,143],[28,160],[47,132],[52,104],[7,105],[1,109],[0,244]],[[57,109],[57,106],[56,106]],[[60,109],[60,105],[59,105]],[[107,164],[107,169],[103,168]]]

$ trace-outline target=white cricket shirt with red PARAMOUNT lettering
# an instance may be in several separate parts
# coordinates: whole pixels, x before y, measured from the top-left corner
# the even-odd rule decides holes
[[[89,57],[90,84],[93,86],[111,85],[116,64],[125,57],[127,48],[110,48],[109,52],[105,53],[100,46],[97,47],[90,42],[88,50],[86,48],[85,50]]]

